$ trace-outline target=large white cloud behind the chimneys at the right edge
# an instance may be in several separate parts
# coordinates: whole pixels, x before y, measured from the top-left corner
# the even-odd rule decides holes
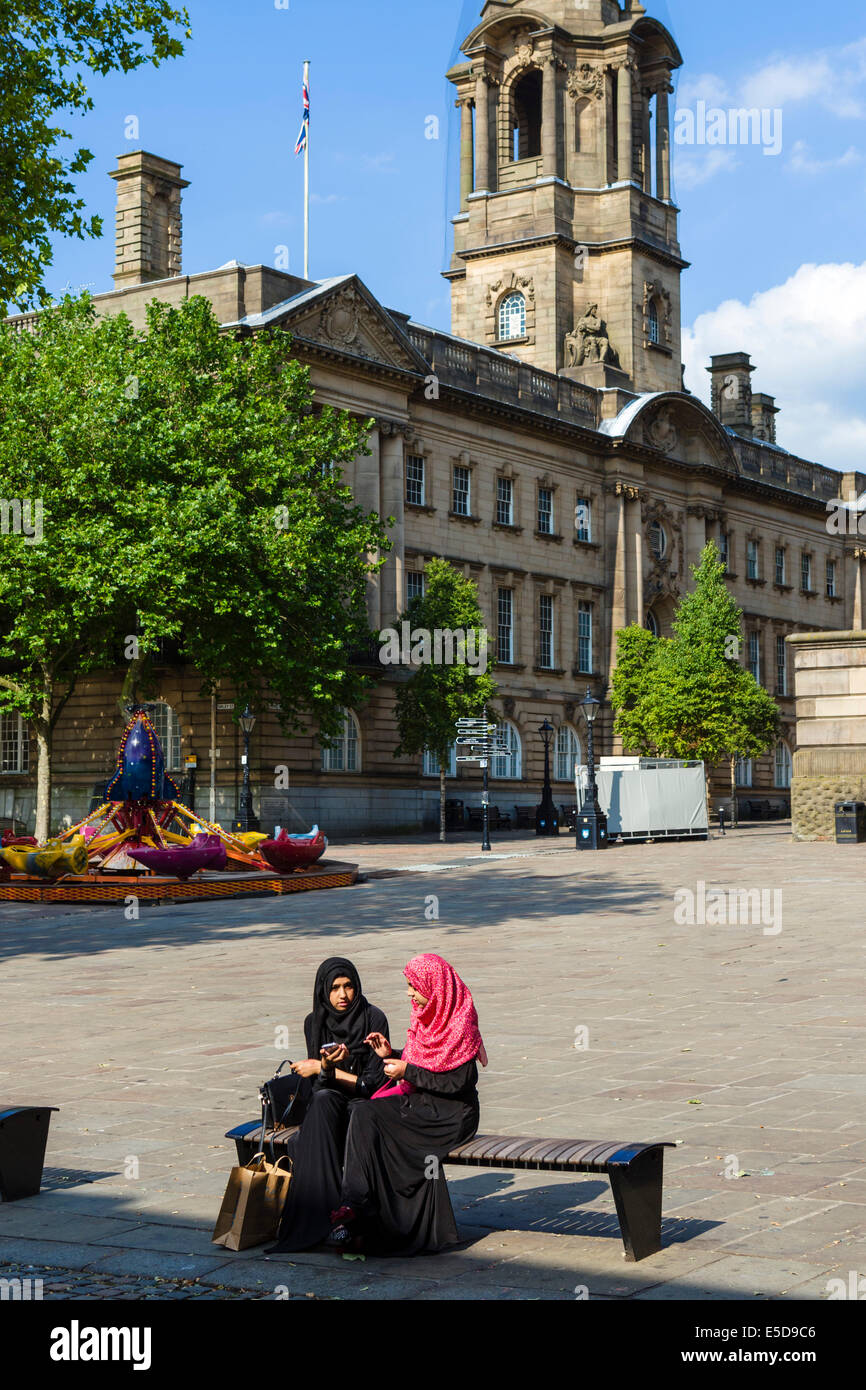
[[[801,265],[744,304],[730,299],[683,334],[687,385],[709,403],[713,354],[748,352],[752,386],[776,396],[784,449],[866,471],[866,261]]]

